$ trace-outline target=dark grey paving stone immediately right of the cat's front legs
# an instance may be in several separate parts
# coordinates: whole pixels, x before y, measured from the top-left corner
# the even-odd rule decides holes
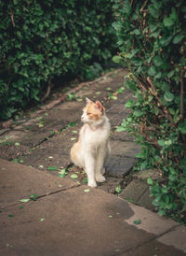
[[[108,163],[105,164],[106,174],[115,178],[124,178],[136,163],[135,158],[112,155]]]

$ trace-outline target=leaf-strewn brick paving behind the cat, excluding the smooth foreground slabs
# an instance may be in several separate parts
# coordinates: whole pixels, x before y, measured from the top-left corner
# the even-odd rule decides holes
[[[69,152],[82,125],[80,117],[87,96],[93,101],[102,102],[112,126],[112,157],[106,166],[107,182],[100,184],[100,189],[115,192],[119,185],[125,187],[124,177],[136,164],[135,156],[140,152],[131,136],[125,132],[115,132],[115,128],[128,115],[124,104],[132,97],[124,87],[125,76],[125,70],[105,75],[98,82],[91,82],[90,86],[87,84],[76,92],[76,101],[65,101],[47,111],[40,109],[33,119],[22,120],[15,123],[13,129],[1,131],[0,140],[5,141],[0,145],[1,157],[56,176],[63,176],[65,169],[66,178],[75,174],[75,181],[85,184],[86,175],[71,166]]]

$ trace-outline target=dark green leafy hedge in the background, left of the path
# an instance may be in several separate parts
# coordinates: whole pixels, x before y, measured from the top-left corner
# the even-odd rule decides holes
[[[0,20],[1,119],[39,100],[56,76],[92,78],[112,57],[109,0],[1,1]]]

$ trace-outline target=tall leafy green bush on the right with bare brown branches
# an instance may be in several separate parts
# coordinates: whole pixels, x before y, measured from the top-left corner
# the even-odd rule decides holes
[[[114,0],[120,53],[116,63],[129,70],[126,86],[131,114],[118,131],[141,144],[140,170],[159,170],[148,178],[153,205],[161,215],[186,223],[186,6],[176,0]]]

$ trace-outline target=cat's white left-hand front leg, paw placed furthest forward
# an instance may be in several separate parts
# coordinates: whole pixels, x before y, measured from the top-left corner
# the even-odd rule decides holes
[[[86,165],[86,175],[87,175],[87,185],[90,187],[97,187],[95,180],[95,160],[91,155],[85,155],[85,165]]]

